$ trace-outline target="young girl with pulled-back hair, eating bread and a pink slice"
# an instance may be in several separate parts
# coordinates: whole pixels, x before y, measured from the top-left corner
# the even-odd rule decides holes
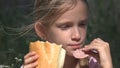
[[[88,61],[84,61],[88,62],[86,68],[112,68],[107,42],[97,38],[83,47],[88,19],[86,0],[36,0],[35,18],[34,28],[37,35],[49,42],[62,44],[67,51],[64,68],[83,68],[80,65],[82,60],[74,57],[76,50],[82,50],[88,55]],[[98,54],[93,53],[93,49]],[[28,53],[24,57],[23,67],[35,68],[38,58],[35,52]]]

